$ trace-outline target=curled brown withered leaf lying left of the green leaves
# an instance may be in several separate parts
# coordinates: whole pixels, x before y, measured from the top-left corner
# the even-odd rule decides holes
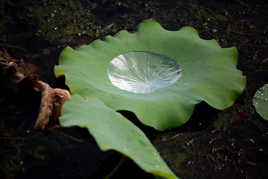
[[[41,92],[40,110],[34,128],[44,130],[49,121],[56,121],[56,125],[50,128],[59,127],[58,119],[63,104],[70,97],[69,91],[53,89],[48,84],[38,81],[37,75],[28,75],[26,71],[23,59],[13,59],[5,50],[0,51],[0,77],[8,92],[19,93],[20,86],[26,90],[35,88]]]

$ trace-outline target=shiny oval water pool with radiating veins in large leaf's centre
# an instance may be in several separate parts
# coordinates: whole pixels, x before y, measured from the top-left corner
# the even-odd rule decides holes
[[[171,86],[181,77],[181,67],[173,59],[152,52],[123,53],[107,66],[113,85],[134,93],[150,93]]]

